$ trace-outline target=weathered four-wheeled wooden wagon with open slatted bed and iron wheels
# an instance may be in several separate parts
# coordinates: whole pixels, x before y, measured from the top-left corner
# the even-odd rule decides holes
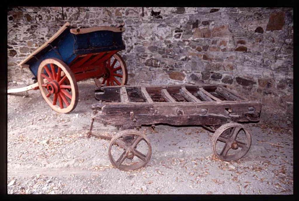
[[[95,99],[99,103],[92,105],[89,135],[110,140],[109,159],[121,170],[136,170],[149,162],[150,142],[134,128],[159,123],[201,125],[214,132],[212,149],[218,158],[238,160],[251,146],[251,134],[241,123],[259,121],[261,112],[260,102],[245,99],[225,85],[107,86],[95,90]],[[94,120],[122,131],[114,137],[92,133]],[[141,142],[144,153],[138,151]],[[119,154],[112,152],[116,145]]]

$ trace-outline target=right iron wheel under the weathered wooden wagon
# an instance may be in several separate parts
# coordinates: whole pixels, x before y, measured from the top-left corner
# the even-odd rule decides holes
[[[226,123],[220,126],[212,137],[212,149],[223,161],[242,158],[251,146],[251,134],[239,123]]]

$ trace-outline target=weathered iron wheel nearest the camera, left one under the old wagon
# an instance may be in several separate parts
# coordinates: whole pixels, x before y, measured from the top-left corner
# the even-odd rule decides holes
[[[137,170],[144,167],[151,155],[152,147],[149,140],[136,130],[120,131],[110,140],[109,159],[120,170]]]

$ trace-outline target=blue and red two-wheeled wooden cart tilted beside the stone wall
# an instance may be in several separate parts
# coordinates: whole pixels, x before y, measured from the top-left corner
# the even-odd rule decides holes
[[[117,53],[125,49],[123,25],[73,28],[65,23],[19,64],[29,68],[37,82],[7,93],[39,89],[52,109],[68,113],[78,102],[77,81],[94,78],[97,86],[125,85],[127,68]]]

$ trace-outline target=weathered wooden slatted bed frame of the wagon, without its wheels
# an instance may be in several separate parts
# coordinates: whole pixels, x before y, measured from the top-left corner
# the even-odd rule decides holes
[[[103,123],[141,126],[221,125],[258,121],[261,103],[249,101],[225,85],[110,86],[95,90],[92,105]]]

